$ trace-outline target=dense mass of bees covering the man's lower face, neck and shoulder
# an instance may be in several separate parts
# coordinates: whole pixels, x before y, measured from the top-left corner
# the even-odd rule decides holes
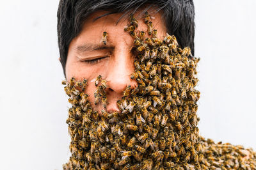
[[[252,150],[244,160],[243,146],[214,143],[198,134],[199,59],[189,47],[181,49],[175,36],[157,38],[150,19],[145,13],[147,38],[144,31],[135,33],[133,15],[125,27],[134,38],[131,79],[138,86],[127,86],[117,102],[120,112],[105,110],[107,82],[100,75],[94,93],[95,105],[101,101],[105,108],[100,114],[84,93],[86,79],[63,81],[72,104],[67,119],[72,156],[63,169],[256,169]]]

